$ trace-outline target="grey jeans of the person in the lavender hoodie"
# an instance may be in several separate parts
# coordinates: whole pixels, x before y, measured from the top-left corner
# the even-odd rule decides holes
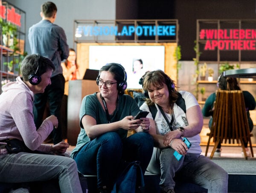
[[[0,156],[0,181],[37,182],[58,179],[61,193],[82,193],[76,162],[65,156],[13,153]]]

